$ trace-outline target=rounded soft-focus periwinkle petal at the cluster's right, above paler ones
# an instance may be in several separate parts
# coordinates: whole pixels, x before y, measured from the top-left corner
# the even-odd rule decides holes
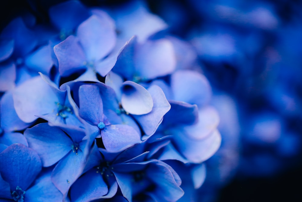
[[[171,76],[174,99],[201,107],[210,101],[211,88],[204,75],[191,70],[179,70]]]

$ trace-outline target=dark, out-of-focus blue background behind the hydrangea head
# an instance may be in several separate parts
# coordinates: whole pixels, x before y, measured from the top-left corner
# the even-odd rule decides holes
[[[88,0],[87,6],[129,1]],[[37,23],[60,0],[2,1],[0,29],[19,14]],[[196,53],[222,145],[206,161],[198,201],[302,201],[302,2],[146,0]]]

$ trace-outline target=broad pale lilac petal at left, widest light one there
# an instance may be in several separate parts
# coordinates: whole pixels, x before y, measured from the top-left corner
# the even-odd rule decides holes
[[[50,113],[59,102],[51,87],[40,76],[27,80],[13,91],[14,107],[19,118],[30,123],[35,115]]]

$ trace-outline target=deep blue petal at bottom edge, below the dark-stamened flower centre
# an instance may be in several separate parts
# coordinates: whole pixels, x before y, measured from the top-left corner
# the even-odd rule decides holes
[[[70,189],[71,201],[86,202],[101,198],[108,193],[103,176],[96,169],[84,173]]]

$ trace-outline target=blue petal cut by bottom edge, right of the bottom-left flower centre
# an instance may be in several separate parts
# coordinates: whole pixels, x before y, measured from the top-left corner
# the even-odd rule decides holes
[[[26,190],[24,200],[31,202],[62,201],[63,194],[51,182],[51,172],[47,172],[35,181],[34,186]]]

